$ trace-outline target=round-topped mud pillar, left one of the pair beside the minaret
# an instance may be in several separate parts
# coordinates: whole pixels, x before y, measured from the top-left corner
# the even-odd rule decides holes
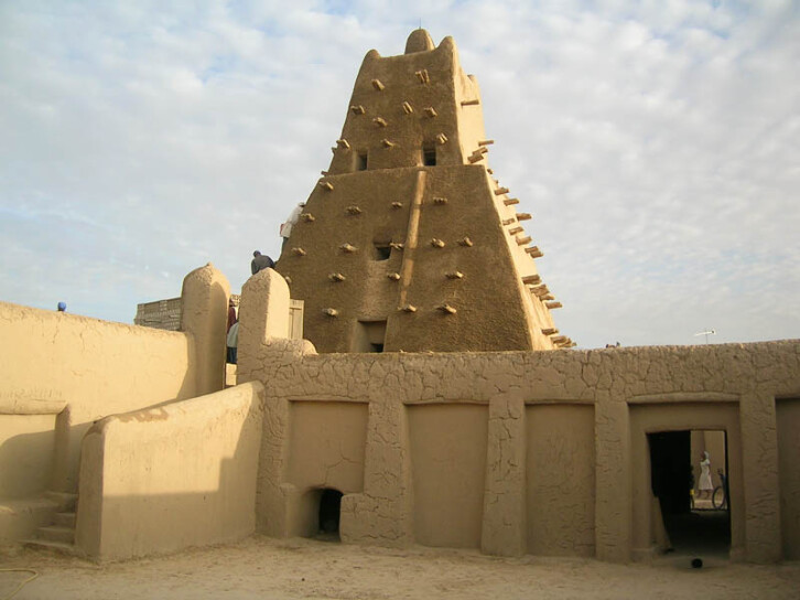
[[[196,375],[195,396],[225,387],[225,354],[230,285],[214,265],[190,272],[181,291],[181,331],[192,336],[190,364]]]

